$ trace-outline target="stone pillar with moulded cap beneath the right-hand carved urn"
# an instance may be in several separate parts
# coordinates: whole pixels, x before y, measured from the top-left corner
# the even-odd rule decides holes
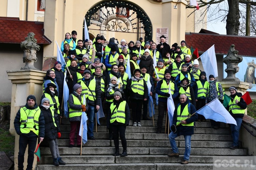
[[[246,83],[246,82],[240,82],[240,81],[222,81],[220,82],[222,85],[222,88],[225,89],[225,94],[226,95],[230,95],[229,92],[229,87],[231,86],[235,86],[237,88],[237,92],[240,92],[243,94],[245,94],[246,90],[249,89],[249,85],[250,83]],[[247,115],[247,109],[245,109],[245,114]]]

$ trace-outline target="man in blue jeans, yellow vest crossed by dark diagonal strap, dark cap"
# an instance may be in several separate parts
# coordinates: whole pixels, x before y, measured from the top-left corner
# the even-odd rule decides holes
[[[88,139],[95,140],[93,129],[94,129],[94,116],[100,108],[100,88],[96,85],[96,80],[92,79],[90,70],[84,71],[84,78],[79,82],[82,86],[82,94],[85,94],[86,99],[88,99],[87,104],[89,108],[86,112],[89,119],[88,126]]]

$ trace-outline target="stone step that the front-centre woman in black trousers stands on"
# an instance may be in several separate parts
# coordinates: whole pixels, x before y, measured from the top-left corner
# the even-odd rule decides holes
[[[42,156],[39,164],[52,164],[52,156]],[[183,160],[183,155],[179,158],[170,158],[167,155],[129,155],[125,158],[110,155],[66,155],[62,160],[67,164],[129,164],[129,163],[177,163]],[[191,155],[189,163],[213,163],[213,156]]]

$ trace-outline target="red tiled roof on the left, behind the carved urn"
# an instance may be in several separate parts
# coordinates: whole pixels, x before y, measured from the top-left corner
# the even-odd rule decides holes
[[[0,17],[0,43],[20,44],[29,32],[33,32],[37,44],[51,44],[52,41],[44,36],[43,29],[43,22],[20,21],[18,18]]]

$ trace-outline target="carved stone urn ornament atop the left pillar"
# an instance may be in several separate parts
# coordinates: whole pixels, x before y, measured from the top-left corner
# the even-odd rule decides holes
[[[20,48],[24,51],[23,63],[26,63],[25,67],[22,67],[21,70],[39,70],[34,67],[34,62],[37,62],[37,51],[40,50],[40,46],[37,44],[37,39],[34,36],[35,34],[30,32],[25,38],[25,41],[20,43]]]

